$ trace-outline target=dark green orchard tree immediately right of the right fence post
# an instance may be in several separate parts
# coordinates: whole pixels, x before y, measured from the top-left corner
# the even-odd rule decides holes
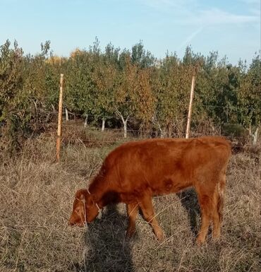
[[[218,53],[210,52],[196,79],[193,115],[197,122],[205,120],[213,132],[217,126],[235,123],[240,81],[241,69],[228,64],[226,57],[218,61]]]

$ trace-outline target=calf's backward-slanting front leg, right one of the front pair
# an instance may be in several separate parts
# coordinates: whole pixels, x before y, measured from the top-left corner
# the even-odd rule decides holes
[[[154,213],[154,208],[152,206],[152,197],[151,196],[144,196],[140,201],[140,208],[142,210],[143,216],[145,220],[150,223],[154,234],[156,235],[159,241],[164,239],[164,233],[162,232],[161,227],[156,219],[156,215]]]

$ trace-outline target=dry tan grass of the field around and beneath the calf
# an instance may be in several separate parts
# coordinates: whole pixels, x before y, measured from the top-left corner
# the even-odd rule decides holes
[[[16,158],[0,158],[0,271],[260,271],[260,160],[233,155],[220,242],[197,247],[195,193],[154,199],[166,240],[154,240],[138,217],[126,240],[123,204],[110,206],[88,230],[68,227],[73,195],[113,146],[66,146],[59,164],[54,139],[28,141]]]

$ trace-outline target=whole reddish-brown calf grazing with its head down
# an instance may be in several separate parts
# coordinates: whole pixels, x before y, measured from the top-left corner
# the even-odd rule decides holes
[[[90,223],[107,204],[123,202],[127,204],[128,237],[135,232],[140,208],[162,240],[152,197],[195,187],[202,218],[197,242],[205,242],[210,221],[212,237],[218,238],[230,155],[229,142],[217,136],[124,143],[107,155],[90,187],[77,191],[69,224]]]

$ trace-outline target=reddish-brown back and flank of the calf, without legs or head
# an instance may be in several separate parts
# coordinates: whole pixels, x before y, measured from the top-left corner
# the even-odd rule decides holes
[[[193,186],[198,179],[213,179],[226,168],[230,153],[221,137],[150,139],[119,146],[103,167],[117,191],[166,194]]]

